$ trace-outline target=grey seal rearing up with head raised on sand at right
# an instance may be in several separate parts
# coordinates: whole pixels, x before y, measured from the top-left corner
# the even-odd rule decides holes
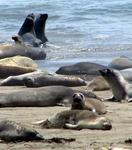
[[[131,101],[132,86],[124,79],[121,73],[113,69],[100,70],[101,75],[108,82],[114,95],[113,100],[120,102]]]

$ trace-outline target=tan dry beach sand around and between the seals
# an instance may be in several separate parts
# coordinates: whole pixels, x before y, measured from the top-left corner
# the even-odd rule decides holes
[[[0,93],[19,90],[23,87],[0,87]],[[102,98],[111,96],[110,91],[96,92]],[[132,103],[105,102],[107,116],[113,125],[110,131],[99,130],[62,130],[62,129],[41,129],[33,126],[32,122],[46,119],[51,115],[68,107],[15,107],[1,108],[0,119],[10,119],[32,126],[45,138],[63,137],[75,138],[75,142],[56,144],[44,142],[21,142],[21,143],[0,143],[0,150],[106,150],[105,147],[117,146],[132,149],[132,144],[125,144],[124,141],[132,138]],[[104,147],[102,149],[102,147]]]

